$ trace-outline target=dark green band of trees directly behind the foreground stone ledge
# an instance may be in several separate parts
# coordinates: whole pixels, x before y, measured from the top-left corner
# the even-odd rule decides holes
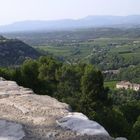
[[[101,71],[93,65],[65,65],[51,57],[40,57],[26,60],[19,68],[1,68],[0,76],[70,104],[114,137],[140,139],[140,93],[109,91],[104,88]]]

